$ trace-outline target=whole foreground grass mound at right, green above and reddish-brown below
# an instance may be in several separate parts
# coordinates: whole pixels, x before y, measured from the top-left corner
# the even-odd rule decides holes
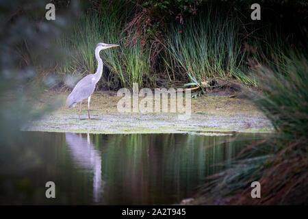
[[[249,94],[271,120],[276,135],[251,146],[245,159],[235,160],[229,170],[211,177],[204,187],[208,201],[231,195],[226,199],[230,204],[307,203],[307,60],[291,55],[285,62],[287,70],[256,66],[262,93]],[[261,149],[269,151],[266,157],[247,158]],[[259,199],[251,198],[253,181],[261,183]]]

